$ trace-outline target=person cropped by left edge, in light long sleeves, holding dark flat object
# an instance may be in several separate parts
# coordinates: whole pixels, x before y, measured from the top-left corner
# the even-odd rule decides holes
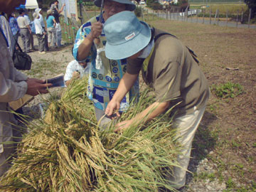
[[[11,14],[16,7],[25,3],[25,0],[0,1],[0,11]],[[28,25],[23,18],[20,22],[23,27]],[[45,80],[28,78],[16,70],[7,47],[8,41],[6,41],[1,28],[0,32],[0,176],[2,176],[10,167],[7,160],[14,153],[13,129],[15,129],[14,125],[17,124],[14,114],[10,112],[9,102],[18,100],[25,94],[35,96],[40,93],[47,93],[47,87],[52,84],[45,83]]]

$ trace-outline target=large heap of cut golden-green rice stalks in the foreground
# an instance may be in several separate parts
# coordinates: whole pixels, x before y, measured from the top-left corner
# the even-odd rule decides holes
[[[172,190],[165,176],[179,149],[166,115],[114,134],[100,131],[85,97],[87,80],[69,86],[51,102],[46,117],[26,135],[18,157],[1,178],[0,191],[158,191]],[[123,119],[134,117],[154,100],[149,91]]]

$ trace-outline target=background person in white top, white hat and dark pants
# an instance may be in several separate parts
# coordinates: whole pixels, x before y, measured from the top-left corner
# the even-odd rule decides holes
[[[38,39],[38,47],[39,47],[39,52],[40,54],[45,54],[46,52],[43,51],[45,48],[45,36],[46,36],[46,31],[43,29],[43,26],[41,25],[40,17],[38,12],[33,13],[33,18],[34,18],[34,23],[35,23],[35,28],[36,28],[36,37]]]

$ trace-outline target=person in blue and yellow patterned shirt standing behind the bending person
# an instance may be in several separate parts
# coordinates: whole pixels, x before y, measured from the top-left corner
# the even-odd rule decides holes
[[[95,0],[100,7],[102,0]],[[73,56],[78,62],[86,62],[90,68],[87,97],[94,102],[95,114],[100,126],[111,119],[105,117],[105,108],[117,90],[119,80],[124,75],[127,60],[109,60],[105,56],[105,33],[102,31],[105,21],[121,11],[134,11],[136,8],[129,0],[104,0],[103,13],[90,18],[82,24],[75,38]],[[129,106],[129,102],[139,94],[139,80],[125,95],[121,103],[121,111]]]

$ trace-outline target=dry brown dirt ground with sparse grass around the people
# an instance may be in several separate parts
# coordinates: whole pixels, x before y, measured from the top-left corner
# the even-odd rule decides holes
[[[256,30],[166,20],[149,23],[174,34],[195,51],[210,87],[226,82],[242,85],[243,93],[234,98],[223,99],[212,92],[192,156],[214,164],[215,177],[225,181],[231,191],[256,190]],[[73,60],[71,48],[66,45],[45,55],[29,53],[33,66],[26,73],[36,78],[65,73]],[[37,96],[26,107],[42,99]]]

